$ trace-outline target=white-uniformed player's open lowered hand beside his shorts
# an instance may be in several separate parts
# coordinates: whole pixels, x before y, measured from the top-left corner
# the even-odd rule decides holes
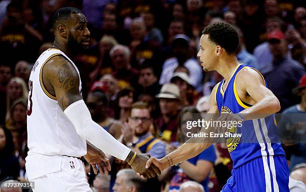
[[[105,154],[87,143],[87,154],[84,156],[85,160],[91,165],[94,174],[97,174],[97,168],[101,175],[108,175],[110,171],[110,164]]]

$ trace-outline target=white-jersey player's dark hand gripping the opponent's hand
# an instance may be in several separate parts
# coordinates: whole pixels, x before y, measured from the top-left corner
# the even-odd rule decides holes
[[[160,175],[160,169],[156,166],[152,165],[150,168],[146,169],[145,164],[147,160],[150,158],[148,154],[137,154],[134,161],[131,163],[130,167],[141,175],[142,178],[154,178]]]

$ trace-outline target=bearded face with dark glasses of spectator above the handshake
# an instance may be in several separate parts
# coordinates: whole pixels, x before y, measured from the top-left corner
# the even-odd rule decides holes
[[[146,134],[150,128],[151,116],[148,109],[132,109],[128,124],[134,129],[137,137]]]

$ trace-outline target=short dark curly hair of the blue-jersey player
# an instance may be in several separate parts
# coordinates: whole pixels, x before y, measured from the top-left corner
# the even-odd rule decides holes
[[[239,45],[239,36],[234,28],[226,22],[215,22],[207,25],[202,34],[208,34],[208,39],[220,45],[228,54],[236,52]]]

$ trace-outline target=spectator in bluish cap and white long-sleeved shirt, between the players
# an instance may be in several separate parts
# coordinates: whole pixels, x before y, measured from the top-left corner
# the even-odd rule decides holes
[[[202,69],[198,62],[190,57],[189,37],[184,34],[175,35],[172,41],[174,57],[164,61],[159,84],[170,82],[174,69],[179,65],[184,65],[190,73],[190,83],[196,91],[201,89]]]

